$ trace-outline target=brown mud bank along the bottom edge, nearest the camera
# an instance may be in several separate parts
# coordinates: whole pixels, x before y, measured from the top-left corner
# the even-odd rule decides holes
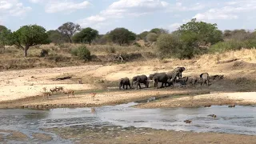
[[[48,130],[47,130],[48,131]],[[238,134],[193,133],[152,130],[149,128],[98,127],[83,130],[80,126],[50,129],[61,138],[76,139],[76,143],[255,143],[256,136]],[[82,131],[82,133],[80,132]]]

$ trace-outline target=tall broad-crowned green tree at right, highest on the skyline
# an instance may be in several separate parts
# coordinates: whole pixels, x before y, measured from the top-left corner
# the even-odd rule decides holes
[[[217,24],[215,23],[196,22],[196,19],[194,18],[190,22],[180,26],[178,30],[181,31],[182,34],[193,35],[198,43],[202,43],[204,45],[209,42],[214,44],[222,41],[222,33],[218,30]]]

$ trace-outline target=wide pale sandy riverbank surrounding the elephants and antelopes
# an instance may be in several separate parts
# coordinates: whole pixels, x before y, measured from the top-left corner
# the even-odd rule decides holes
[[[146,62],[130,62],[120,65],[90,65],[90,66],[71,66],[62,68],[47,68],[34,70],[12,70],[2,71],[0,74],[0,107],[58,107],[58,106],[102,106],[106,104],[114,105],[122,102],[131,102],[133,100],[150,98],[151,96],[175,95],[175,94],[205,94],[208,93],[234,93],[250,92],[256,90],[256,70],[252,67],[254,64],[248,62],[227,62],[227,63],[204,63],[204,59],[199,60],[150,60]],[[209,87],[187,86],[186,88],[155,90],[150,83],[150,89],[142,90],[118,90],[119,78],[132,78],[138,74],[152,74],[155,72],[166,72],[173,70],[176,66],[185,66],[186,70],[183,76],[199,75],[202,72],[208,72],[210,75],[222,74],[224,79],[211,82]],[[210,68],[210,67],[214,68]],[[241,67],[238,69],[238,67]],[[71,76],[72,78],[55,81],[58,77]],[[250,79],[249,79],[250,78]],[[83,84],[79,84],[82,80]],[[65,94],[53,94],[50,99],[42,98],[42,88],[46,87],[49,91],[54,86],[63,86],[64,90],[74,90],[75,98],[67,98]],[[91,99],[91,92],[97,92],[96,98]],[[100,91],[100,92],[99,92]],[[246,93],[245,93],[246,94]],[[246,97],[245,94],[242,95]],[[191,101],[184,106],[202,106],[204,104],[227,104],[237,103],[232,98],[216,97],[220,99],[211,99],[210,95],[202,97],[201,101]],[[215,96],[214,96],[215,97]],[[199,98],[199,97],[198,97]],[[200,99],[200,98],[199,98]],[[183,101],[184,99],[180,99]],[[213,102],[207,102],[212,101]],[[173,102],[173,100],[166,99]],[[179,101],[179,100],[178,100]],[[240,102],[240,101],[239,101]],[[167,102],[169,103],[169,102]],[[182,102],[178,102],[181,106]],[[194,103],[198,103],[194,104]],[[248,101],[240,104],[254,104],[254,101]],[[150,104],[149,104],[150,105]],[[152,104],[154,105],[154,104]],[[161,106],[168,106],[165,102]],[[159,105],[160,106],[160,105]]]

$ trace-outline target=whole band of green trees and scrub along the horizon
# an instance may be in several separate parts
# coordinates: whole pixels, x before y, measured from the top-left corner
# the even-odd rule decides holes
[[[72,42],[73,44],[70,44]],[[48,43],[52,44],[43,45]],[[196,19],[191,19],[172,33],[162,28],[154,28],[134,34],[119,27],[106,34],[98,34],[98,30],[90,27],[82,29],[73,22],[66,22],[57,30],[49,31],[37,25],[22,26],[17,31],[0,26],[0,54],[3,59],[22,58],[24,55],[37,60],[44,58],[47,62],[80,63],[95,60],[98,55],[111,57],[114,54],[144,52],[154,53],[154,56],[158,54],[158,58],[183,59],[194,58],[200,54],[255,47],[255,31],[221,31],[218,30],[217,24],[198,22]],[[31,54],[28,54],[28,50]],[[6,67],[9,69],[11,66]]]

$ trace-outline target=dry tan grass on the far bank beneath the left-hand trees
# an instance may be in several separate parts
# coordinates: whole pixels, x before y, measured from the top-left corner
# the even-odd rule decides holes
[[[20,70],[30,68],[46,68],[56,66],[81,66],[84,61],[71,54],[71,50],[81,44],[64,43],[60,45],[31,46],[28,57],[24,58],[23,50],[15,46],[0,51],[0,70]],[[138,46],[93,45],[86,47],[92,55],[145,53],[154,51],[152,48]],[[41,58],[41,50],[47,50],[48,56]]]

